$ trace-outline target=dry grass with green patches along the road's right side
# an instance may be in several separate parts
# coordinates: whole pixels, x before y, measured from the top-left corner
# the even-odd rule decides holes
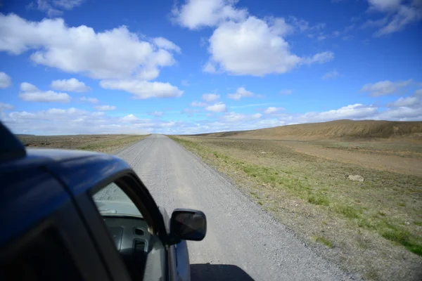
[[[230,176],[253,201],[343,268],[369,280],[421,279],[421,176],[300,153],[292,141],[174,140]],[[321,146],[326,144],[311,147]],[[402,149],[418,151],[397,148]],[[422,166],[420,158],[414,161]],[[365,181],[349,181],[350,174]]]

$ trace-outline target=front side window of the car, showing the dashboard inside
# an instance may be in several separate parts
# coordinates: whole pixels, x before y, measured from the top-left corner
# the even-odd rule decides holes
[[[123,186],[110,183],[91,197],[132,280],[160,280],[166,272],[165,247],[143,219],[139,209],[145,208],[138,208],[124,192],[127,184]]]

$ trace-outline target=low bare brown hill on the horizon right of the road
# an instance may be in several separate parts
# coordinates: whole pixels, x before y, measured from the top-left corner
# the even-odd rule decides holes
[[[250,131],[201,133],[195,136],[221,138],[262,138],[280,140],[306,139],[362,139],[362,138],[414,138],[422,140],[422,122],[394,122],[375,120],[335,120]]]

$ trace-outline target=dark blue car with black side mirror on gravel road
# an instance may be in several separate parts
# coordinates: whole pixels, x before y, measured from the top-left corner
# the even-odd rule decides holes
[[[25,150],[1,123],[0,136],[0,280],[190,280],[203,212],[169,218],[113,155]]]

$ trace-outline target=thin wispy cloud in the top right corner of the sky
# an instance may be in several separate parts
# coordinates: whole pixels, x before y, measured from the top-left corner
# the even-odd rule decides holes
[[[407,25],[422,19],[422,2],[419,0],[368,0],[369,11],[384,13],[379,20],[368,20],[362,27],[379,26],[373,36],[381,37],[403,30]]]

